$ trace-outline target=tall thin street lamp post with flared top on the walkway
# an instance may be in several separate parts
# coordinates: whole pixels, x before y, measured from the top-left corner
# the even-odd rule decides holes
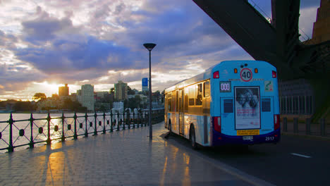
[[[152,85],[151,85],[151,51],[154,49],[156,44],[153,43],[145,43],[143,44],[145,48],[149,51],[149,139],[152,140],[152,122],[151,122],[151,115],[152,115]]]

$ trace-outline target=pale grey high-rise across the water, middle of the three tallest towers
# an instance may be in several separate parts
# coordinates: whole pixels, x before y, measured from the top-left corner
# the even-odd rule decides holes
[[[94,86],[82,85],[81,90],[77,91],[77,99],[87,111],[94,111]]]

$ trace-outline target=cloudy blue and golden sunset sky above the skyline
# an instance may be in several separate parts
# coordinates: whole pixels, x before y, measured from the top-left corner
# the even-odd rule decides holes
[[[252,2],[271,17],[271,0]],[[300,2],[308,37],[319,2]],[[51,97],[65,83],[70,94],[85,84],[109,91],[118,80],[141,90],[149,77],[145,42],[157,44],[153,91],[220,61],[252,59],[192,0],[0,0],[0,7],[0,100]]]

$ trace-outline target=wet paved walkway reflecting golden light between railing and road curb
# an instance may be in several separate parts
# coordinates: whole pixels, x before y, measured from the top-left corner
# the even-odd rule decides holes
[[[251,185],[160,137],[164,123],[0,154],[0,185]],[[179,149],[180,148],[180,149]]]

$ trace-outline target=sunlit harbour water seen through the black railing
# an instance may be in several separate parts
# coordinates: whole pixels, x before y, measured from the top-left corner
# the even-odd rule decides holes
[[[109,115],[109,113],[106,113]],[[99,116],[100,115],[100,116]],[[34,142],[41,142],[35,144],[35,147],[44,145],[46,142],[42,142],[47,140],[48,136],[48,121],[47,121],[47,113],[34,113],[33,118],[37,119],[33,121],[32,125],[32,137]],[[66,137],[73,137],[74,135],[74,113],[65,113],[64,116],[66,117],[64,123],[62,124],[61,113],[51,113],[51,120],[50,120],[50,136],[52,143],[53,142],[60,142],[59,138],[62,137],[63,133]],[[94,113],[88,114],[87,120],[85,120],[85,113],[77,113],[77,120],[76,120],[76,128],[78,135],[84,135],[87,129],[87,132],[94,132],[95,128],[95,117]],[[80,116],[80,117],[79,117]],[[7,121],[10,118],[10,113],[0,113],[0,121]],[[122,117],[121,117],[122,118]],[[13,120],[16,122],[13,123],[13,146],[19,146],[22,144],[29,144],[31,140],[31,124],[30,124],[30,113],[13,113]],[[40,119],[40,120],[39,120]],[[42,120],[41,120],[42,119]],[[113,120],[116,117],[113,118]],[[23,121],[18,121],[23,120]],[[106,130],[110,130],[111,125],[108,124],[108,120],[110,116],[103,117],[103,113],[98,113],[96,119],[96,130],[98,132],[102,131],[105,127]],[[110,123],[110,122],[109,122]],[[114,126],[116,127],[116,126]],[[6,148],[9,145],[9,130],[10,125],[8,123],[0,123],[0,132],[1,132],[1,139],[0,139],[0,149]],[[24,135],[20,136],[20,130],[24,130]],[[23,132],[23,131],[22,131]],[[55,140],[58,139],[58,140]],[[19,149],[26,149],[29,145],[25,145],[23,147],[16,147],[14,150],[17,151]],[[8,151],[7,149],[0,150],[0,153],[4,153]]]

